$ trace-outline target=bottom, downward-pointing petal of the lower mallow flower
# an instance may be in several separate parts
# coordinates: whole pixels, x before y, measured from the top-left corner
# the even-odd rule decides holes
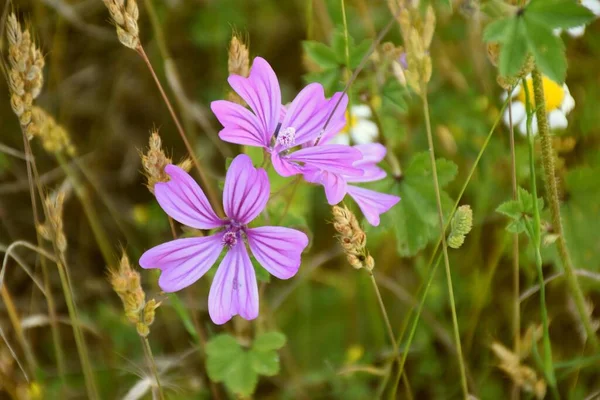
[[[219,265],[208,294],[208,313],[221,325],[234,315],[246,320],[258,317],[258,286],[246,246],[233,246]]]

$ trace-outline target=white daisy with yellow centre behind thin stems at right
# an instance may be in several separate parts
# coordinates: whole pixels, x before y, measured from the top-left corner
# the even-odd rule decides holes
[[[530,102],[533,106],[533,83],[531,76],[526,78],[527,88],[529,90]],[[567,84],[560,86],[550,78],[542,77],[542,84],[544,86],[544,97],[546,100],[546,112],[548,113],[548,124],[550,129],[566,129],[568,126],[567,114],[575,107],[575,100]],[[513,126],[517,127],[523,135],[527,135],[527,113],[525,110],[525,91],[522,87],[523,83],[519,83],[513,90],[511,98],[514,99],[511,103],[512,121]],[[502,100],[506,100],[508,93],[502,95]],[[506,126],[509,126],[509,114],[508,107],[504,111],[503,120]],[[533,134],[537,133],[537,117],[535,114],[531,120],[531,131]]]

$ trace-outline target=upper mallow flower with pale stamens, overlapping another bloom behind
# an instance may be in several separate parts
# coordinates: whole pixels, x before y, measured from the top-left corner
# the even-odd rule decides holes
[[[275,72],[264,59],[252,63],[250,76],[231,75],[229,84],[250,106],[250,110],[230,101],[211,103],[223,129],[219,137],[226,142],[263,147],[271,154],[273,167],[281,176],[302,173],[304,167],[337,174],[360,175],[352,163],[361,154],[350,146],[329,144],[319,147],[293,148],[314,141],[319,135],[340,131],[346,124],[348,98],[336,93],[325,98],[323,86],[311,83],[296,96],[287,110],[281,105],[281,91]],[[323,131],[331,105],[343,96],[342,104]]]

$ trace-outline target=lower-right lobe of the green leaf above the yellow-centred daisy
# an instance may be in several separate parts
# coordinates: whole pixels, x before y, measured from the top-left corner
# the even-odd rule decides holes
[[[524,18],[529,51],[542,73],[555,82],[563,83],[567,75],[565,46],[552,29],[527,14]]]

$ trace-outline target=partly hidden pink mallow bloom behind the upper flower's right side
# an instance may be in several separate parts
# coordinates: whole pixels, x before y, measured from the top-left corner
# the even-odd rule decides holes
[[[332,137],[324,135],[315,147],[321,146],[321,143],[327,143]],[[354,163],[355,168],[362,170],[361,176],[344,175],[318,168],[306,168],[304,179],[323,185],[327,201],[331,205],[339,203],[346,194],[349,194],[356,201],[367,221],[371,225],[377,226],[380,222],[379,216],[395,206],[400,201],[400,197],[349,185],[348,183],[374,182],[385,178],[385,171],[379,168],[377,163],[383,160],[387,150],[380,143],[361,144],[354,146],[354,148],[362,154],[362,158]]]

